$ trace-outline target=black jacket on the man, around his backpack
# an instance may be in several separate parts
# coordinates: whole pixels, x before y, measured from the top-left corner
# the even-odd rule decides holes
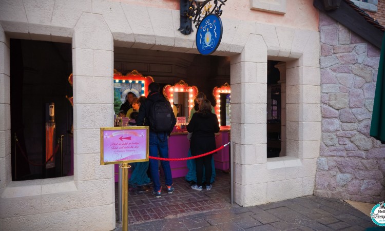
[[[150,110],[152,108],[152,103],[161,99],[165,99],[162,94],[160,94],[158,91],[156,92],[151,92],[148,94],[147,99],[144,100],[144,102],[140,105],[139,108],[139,114],[136,119],[137,121],[137,126],[149,126],[150,131],[154,131],[150,124],[149,124],[149,116],[150,116]],[[171,104],[170,104],[171,107]],[[172,113],[172,123],[175,125],[177,123],[177,119],[175,118],[174,113]],[[170,134],[172,131],[171,130],[168,132]]]

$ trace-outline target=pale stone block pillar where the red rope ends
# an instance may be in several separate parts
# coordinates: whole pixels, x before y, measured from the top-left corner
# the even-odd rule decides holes
[[[261,204],[267,190],[256,178],[266,168],[267,47],[261,35],[249,35],[230,71],[235,202]]]

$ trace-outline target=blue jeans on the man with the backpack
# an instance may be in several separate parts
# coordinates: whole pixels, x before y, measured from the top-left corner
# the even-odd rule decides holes
[[[149,156],[150,157],[158,157],[168,158],[168,137],[166,132],[152,132],[150,131],[149,135]],[[153,182],[153,190],[159,191],[161,189],[161,183],[159,180],[159,168],[158,168],[158,160],[150,159],[150,172],[151,178]],[[172,185],[172,176],[171,176],[171,168],[169,161],[161,161],[161,165],[164,172],[164,178],[166,181],[166,185]]]

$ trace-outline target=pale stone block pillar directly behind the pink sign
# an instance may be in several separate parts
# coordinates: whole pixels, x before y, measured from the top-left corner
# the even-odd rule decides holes
[[[89,230],[112,230],[113,165],[100,165],[100,127],[113,126],[113,37],[102,15],[83,13],[80,17],[74,28],[72,62],[74,183],[84,196],[92,198],[89,209],[97,206],[96,211],[108,211],[103,219],[97,219],[98,213],[80,216]],[[94,191],[91,185],[101,188]]]

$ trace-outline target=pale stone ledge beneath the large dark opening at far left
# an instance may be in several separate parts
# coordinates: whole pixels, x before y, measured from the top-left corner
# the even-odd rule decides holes
[[[30,181],[11,181],[0,190],[1,198],[17,198],[77,191],[73,176],[38,179]]]

